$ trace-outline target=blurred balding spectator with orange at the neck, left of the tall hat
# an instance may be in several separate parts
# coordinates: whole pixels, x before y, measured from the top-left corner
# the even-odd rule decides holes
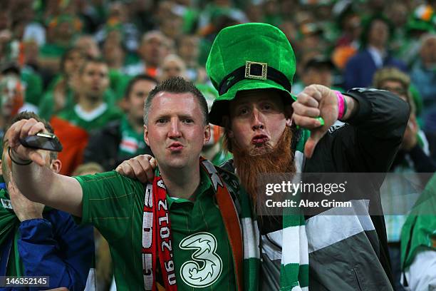
[[[138,53],[140,62],[125,68],[125,73],[135,76],[145,73],[153,78],[157,76],[160,62],[170,51],[170,41],[160,31],[149,31],[142,36]]]

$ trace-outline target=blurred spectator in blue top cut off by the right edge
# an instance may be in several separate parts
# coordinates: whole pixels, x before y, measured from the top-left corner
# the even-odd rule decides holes
[[[420,58],[410,77],[422,96],[422,120],[425,131],[436,133],[436,34],[421,39]]]

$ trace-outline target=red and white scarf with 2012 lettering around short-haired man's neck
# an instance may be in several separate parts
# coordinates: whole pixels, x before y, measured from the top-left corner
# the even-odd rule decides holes
[[[234,267],[238,290],[243,290],[243,250],[242,229],[239,224],[237,210],[232,196],[224,185],[217,169],[204,158],[200,158],[202,170],[209,173],[216,193],[217,203],[221,212],[227,238],[232,247]],[[174,255],[172,253],[170,211],[167,203],[167,190],[158,171],[153,183],[145,186],[144,213],[142,217],[142,274],[145,290],[155,291],[157,258],[165,290],[176,291]]]

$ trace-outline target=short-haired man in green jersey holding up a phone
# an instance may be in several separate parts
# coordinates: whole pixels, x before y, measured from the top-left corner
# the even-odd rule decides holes
[[[171,78],[150,92],[144,121],[145,142],[159,163],[152,183],[114,171],[53,173],[38,151],[19,142],[44,130],[29,119],[6,132],[16,185],[29,199],[98,228],[110,245],[118,290],[242,290],[237,183],[200,159],[210,138],[204,97],[192,83]]]

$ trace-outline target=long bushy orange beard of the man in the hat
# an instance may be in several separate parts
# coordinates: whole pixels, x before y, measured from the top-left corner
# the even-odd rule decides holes
[[[266,148],[255,148],[254,150],[242,149],[234,141],[231,141],[239,182],[249,194],[255,209],[258,202],[263,202],[258,198],[262,200],[266,198],[265,195],[257,196],[260,175],[296,172],[294,153],[291,148],[292,136],[291,128],[286,127],[275,147],[267,143]]]

